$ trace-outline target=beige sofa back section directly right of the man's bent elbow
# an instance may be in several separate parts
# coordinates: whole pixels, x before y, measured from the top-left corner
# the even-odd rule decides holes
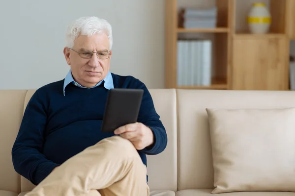
[[[176,91],[150,89],[155,109],[167,132],[166,149],[157,155],[147,155],[148,186],[153,190],[177,191],[177,112]],[[161,164],[159,164],[161,163]]]

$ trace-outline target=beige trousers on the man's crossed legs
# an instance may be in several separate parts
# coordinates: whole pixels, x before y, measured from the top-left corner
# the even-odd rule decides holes
[[[25,196],[149,196],[147,168],[131,142],[113,136],[68,159]]]

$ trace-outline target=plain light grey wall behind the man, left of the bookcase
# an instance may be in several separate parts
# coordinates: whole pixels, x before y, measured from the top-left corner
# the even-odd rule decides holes
[[[111,72],[164,87],[164,0],[0,0],[0,89],[39,88],[69,70],[66,25],[82,16],[113,26]]]

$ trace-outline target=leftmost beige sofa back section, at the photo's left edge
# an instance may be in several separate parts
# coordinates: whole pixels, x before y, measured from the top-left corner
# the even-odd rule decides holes
[[[20,176],[14,171],[11,149],[24,109],[26,90],[0,91],[0,190],[18,193]]]

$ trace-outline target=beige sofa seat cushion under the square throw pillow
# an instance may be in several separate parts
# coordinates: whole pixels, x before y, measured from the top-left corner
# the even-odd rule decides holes
[[[176,196],[212,196],[212,189],[204,190],[183,190],[176,193]],[[224,193],[222,196],[295,196],[291,192],[237,192]]]

